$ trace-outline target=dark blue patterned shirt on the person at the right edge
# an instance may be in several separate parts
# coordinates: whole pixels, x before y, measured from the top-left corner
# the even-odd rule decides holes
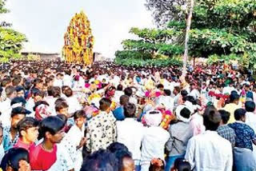
[[[246,125],[243,122],[236,121],[232,124],[229,124],[230,128],[234,129],[235,137],[235,146],[239,148],[246,148],[253,151],[253,140],[256,140],[256,135],[254,129],[250,128],[249,125]]]

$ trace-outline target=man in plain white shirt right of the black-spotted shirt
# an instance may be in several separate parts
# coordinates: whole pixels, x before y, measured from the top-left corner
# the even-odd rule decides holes
[[[140,170],[141,145],[145,128],[142,123],[136,121],[134,114],[136,106],[132,103],[124,105],[124,121],[117,121],[118,142],[126,145],[133,154],[136,170]]]

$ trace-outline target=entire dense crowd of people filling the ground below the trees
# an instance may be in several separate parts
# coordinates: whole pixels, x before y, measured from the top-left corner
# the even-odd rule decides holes
[[[5,171],[256,170],[256,85],[218,63],[0,65]]]

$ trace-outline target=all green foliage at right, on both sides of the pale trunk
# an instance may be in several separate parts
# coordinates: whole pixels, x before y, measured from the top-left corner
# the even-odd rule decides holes
[[[185,1],[178,2],[146,0],[146,6],[154,12],[155,21],[165,21],[169,16],[168,28],[132,28],[130,33],[138,35],[139,40],[122,42],[125,52],[116,54],[118,60],[134,57],[145,62],[161,55],[166,55],[168,59],[181,56],[188,9],[169,6],[186,4]],[[196,0],[189,47],[190,57],[208,58],[208,63],[230,63],[235,60],[242,66],[256,70],[256,1]]]

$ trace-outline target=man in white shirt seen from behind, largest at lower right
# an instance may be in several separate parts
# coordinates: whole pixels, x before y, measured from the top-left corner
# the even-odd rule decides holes
[[[194,136],[186,148],[186,160],[196,171],[231,171],[233,154],[230,141],[219,136],[216,130],[222,117],[214,107],[206,109],[206,132]]]

